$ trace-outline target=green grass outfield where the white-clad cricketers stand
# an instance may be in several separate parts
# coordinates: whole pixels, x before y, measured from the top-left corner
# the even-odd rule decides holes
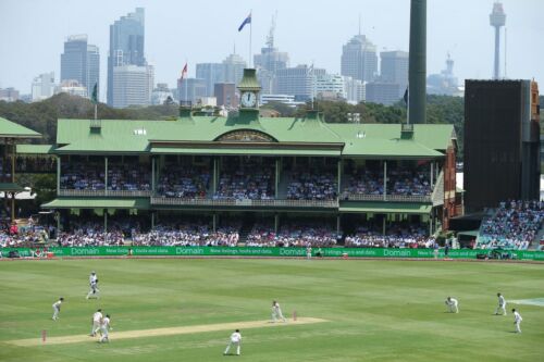
[[[86,300],[96,270],[102,298]],[[493,315],[507,300],[544,298],[544,264],[115,259],[0,262],[0,361],[543,361],[544,307],[517,305],[521,335]],[[444,300],[459,299],[459,314]],[[51,304],[65,298],[60,320]],[[128,330],[262,321],[284,314],[329,322],[243,329],[242,357],[223,357],[232,330],[115,340]],[[88,334],[97,308],[111,342],[18,347],[11,340]]]

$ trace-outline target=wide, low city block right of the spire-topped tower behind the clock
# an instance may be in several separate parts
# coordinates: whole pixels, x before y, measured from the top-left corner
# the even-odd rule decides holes
[[[276,74],[277,93],[295,96],[296,100],[309,100],[316,97],[313,93],[314,77],[325,73],[323,68],[313,68],[313,66],[306,64],[279,70]]]

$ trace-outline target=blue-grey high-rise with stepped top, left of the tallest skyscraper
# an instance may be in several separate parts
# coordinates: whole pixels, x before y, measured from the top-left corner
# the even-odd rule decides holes
[[[97,46],[87,43],[87,35],[73,35],[64,42],[61,54],[61,83],[76,80],[86,87],[86,93],[92,95],[96,84],[100,89],[100,52]]]

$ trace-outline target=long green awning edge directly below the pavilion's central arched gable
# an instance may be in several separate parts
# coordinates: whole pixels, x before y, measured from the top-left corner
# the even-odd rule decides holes
[[[317,155],[339,157],[339,150],[277,149],[277,148],[184,148],[152,147],[153,154],[242,154],[242,155]]]

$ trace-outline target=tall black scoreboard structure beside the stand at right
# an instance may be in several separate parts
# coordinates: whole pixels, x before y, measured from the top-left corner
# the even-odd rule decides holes
[[[540,198],[540,109],[531,80],[465,82],[465,207]]]

